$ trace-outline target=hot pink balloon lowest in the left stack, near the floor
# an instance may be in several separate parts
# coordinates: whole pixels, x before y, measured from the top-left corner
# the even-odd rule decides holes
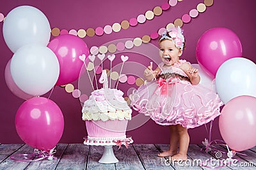
[[[24,143],[49,151],[60,141],[64,129],[63,114],[52,100],[31,98],[20,105],[15,127]]]

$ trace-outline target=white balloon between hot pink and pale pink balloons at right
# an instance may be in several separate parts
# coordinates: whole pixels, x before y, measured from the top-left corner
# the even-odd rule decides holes
[[[256,97],[255,78],[256,65],[250,59],[228,59],[216,73],[217,93],[224,104],[242,95]]]

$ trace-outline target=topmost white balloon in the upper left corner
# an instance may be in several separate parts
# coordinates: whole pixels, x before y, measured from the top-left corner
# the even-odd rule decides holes
[[[44,13],[33,6],[18,6],[6,15],[3,36],[12,52],[23,45],[46,46],[51,37],[51,27]]]

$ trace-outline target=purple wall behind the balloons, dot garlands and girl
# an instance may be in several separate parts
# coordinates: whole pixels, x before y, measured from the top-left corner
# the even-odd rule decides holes
[[[139,3],[140,2],[140,3]],[[129,20],[132,17],[137,17],[144,14],[147,10],[152,10],[155,6],[168,2],[167,0],[147,0],[147,1],[5,1],[1,3],[0,13],[5,16],[13,8],[20,5],[35,6],[45,13],[49,20],[51,27],[59,27],[60,29],[87,29],[98,26],[104,27],[107,24],[112,25],[115,22],[122,20]],[[174,19],[180,18],[184,13],[188,13],[191,9],[196,8],[198,3],[204,3],[203,0],[184,0],[179,2],[177,6],[163,12],[159,17],[153,20],[147,20],[145,24],[138,24],[129,29],[122,29],[118,33],[103,36],[86,36],[83,38],[88,47],[93,45],[100,46],[104,43],[118,40],[121,38],[135,38],[157,31],[160,27],[165,27],[166,24],[173,22]],[[186,50],[182,58],[187,59],[191,63],[196,62],[195,50],[196,42],[200,36],[213,27],[227,27],[239,36],[243,45],[243,56],[256,62],[255,49],[255,4],[253,0],[248,1],[234,1],[234,0],[215,0],[213,6],[207,8],[204,13],[200,13],[196,19],[192,19],[188,24],[184,24],[184,35],[186,38]],[[0,143],[22,143],[19,135],[15,130],[15,113],[24,100],[15,97],[6,86],[4,81],[4,68],[10,58],[12,52],[4,43],[2,34],[2,25],[0,23],[0,89],[2,98],[0,102],[1,119],[0,119]],[[51,37],[52,40],[53,37]],[[157,40],[151,41],[157,44]],[[129,61],[136,61],[142,65],[148,65],[148,60],[141,57],[140,54],[129,53]],[[150,56],[152,59],[158,59],[158,56]],[[77,81],[73,82],[77,88]],[[87,84],[89,85],[89,83]],[[124,89],[128,89],[128,84],[119,84]],[[49,96],[49,93],[44,95]],[[81,104],[77,98],[72,97],[65,89],[57,87],[54,89],[51,100],[56,102],[61,108],[65,118],[65,129],[60,143],[82,143],[83,137],[86,135],[86,128],[84,122],[81,120]],[[134,115],[136,112],[134,111]],[[209,125],[207,125],[209,127]],[[139,128],[127,132],[132,135],[135,143],[168,143],[169,131],[168,127],[156,125],[149,120],[147,123]],[[191,143],[201,143],[207,136],[205,127],[198,127],[189,130]],[[214,127],[212,129],[212,139],[221,139],[218,130],[218,118],[214,120]]]

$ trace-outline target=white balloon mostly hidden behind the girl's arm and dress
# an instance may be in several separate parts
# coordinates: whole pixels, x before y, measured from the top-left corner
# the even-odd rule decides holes
[[[198,64],[191,64],[191,66],[193,66],[194,68],[197,68],[199,71],[199,76],[200,76],[200,82],[199,84],[202,84],[204,86],[206,86],[207,88],[212,89],[212,91],[215,91],[215,84],[213,81],[213,79],[207,75],[207,73],[204,72],[204,70],[200,67],[200,65]]]

